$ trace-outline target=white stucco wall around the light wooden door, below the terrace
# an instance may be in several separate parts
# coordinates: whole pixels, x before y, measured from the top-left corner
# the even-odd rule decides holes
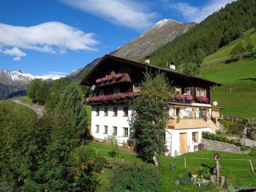
[[[202,138],[202,132],[207,131],[210,133],[215,133],[210,127],[199,128],[199,129],[183,129],[183,130],[172,130],[166,129],[165,130],[165,140],[168,150],[170,150],[170,155],[174,156],[175,151],[177,151],[177,155],[180,155],[180,133],[187,133],[187,152],[194,152],[194,145],[198,145]],[[192,141],[192,133],[198,132],[198,141]],[[171,147],[172,143],[172,147]]]

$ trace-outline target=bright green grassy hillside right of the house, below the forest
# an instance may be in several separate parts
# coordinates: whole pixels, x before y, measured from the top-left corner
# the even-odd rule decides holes
[[[204,65],[225,61],[232,47],[250,36],[256,48],[256,33],[248,30],[243,38],[230,42],[204,59]],[[223,83],[220,88],[211,90],[211,101],[218,101],[218,106],[225,109],[221,114],[245,118],[256,117],[256,59],[248,58],[241,61],[224,63],[201,68],[201,77]],[[230,90],[231,89],[231,90]]]

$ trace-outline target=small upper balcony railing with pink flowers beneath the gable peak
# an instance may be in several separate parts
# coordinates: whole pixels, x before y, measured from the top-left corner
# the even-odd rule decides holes
[[[132,82],[128,73],[116,74],[109,77],[103,77],[96,80],[97,87],[106,86],[108,84],[114,84],[118,82]]]

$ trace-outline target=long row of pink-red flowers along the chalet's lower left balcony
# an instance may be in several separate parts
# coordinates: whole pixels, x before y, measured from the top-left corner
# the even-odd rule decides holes
[[[124,99],[133,99],[138,96],[138,93],[130,92],[130,93],[119,93],[116,95],[102,95],[98,97],[89,97],[86,99],[82,99],[83,103],[106,103],[106,102],[113,102],[113,101],[119,101]]]

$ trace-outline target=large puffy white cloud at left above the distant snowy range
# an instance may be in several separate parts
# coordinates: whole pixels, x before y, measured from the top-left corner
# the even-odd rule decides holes
[[[63,54],[67,49],[96,50],[93,46],[97,43],[93,33],[84,33],[59,22],[48,22],[31,27],[0,23],[1,47],[13,47],[5,50],[0,47],[0,53],[4,54],[26,56],[26,53],[18,48]]]

